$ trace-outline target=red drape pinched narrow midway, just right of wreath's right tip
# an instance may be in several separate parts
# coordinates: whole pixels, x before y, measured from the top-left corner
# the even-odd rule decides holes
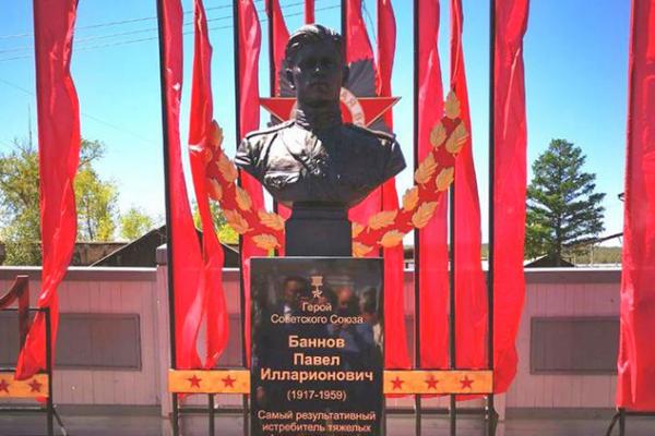
[[[451,0],[451,89],[460,99],[468,140],[455,164],[455,353],[457,367],[486,365],[487,287],[480,259],[480,202],[471,136],[471,113],[464,66],[462,0]]]

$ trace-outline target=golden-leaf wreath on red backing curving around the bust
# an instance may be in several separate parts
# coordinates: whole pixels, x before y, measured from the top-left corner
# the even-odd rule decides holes
[[[383,210],[367,225],[353,222],[353,255],[362,257],[380,247],[402,243],[407,232],[428,225],[443,194],[455,177],[455,158],[466,144],[468,132],[460,118],[460,100],[449,93],[444,116],[430,131],[432,148],[414,173],[416,184],[403,195],[403,207]],[[254,210],[246,190],[237,186],[238,170],[222,148],[223,131],[212,124],[211,149],[205,155],[206,190],[219,203],[227,222],[237,233],[263,250],[284,244],[284,219],[266,210]]]

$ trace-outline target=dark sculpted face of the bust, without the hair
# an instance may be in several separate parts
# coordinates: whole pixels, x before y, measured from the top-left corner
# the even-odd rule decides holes
[[[320,40],[300,47],[286,74],[298,102],[312,107],[338,101],[347,69],[335,45]]]

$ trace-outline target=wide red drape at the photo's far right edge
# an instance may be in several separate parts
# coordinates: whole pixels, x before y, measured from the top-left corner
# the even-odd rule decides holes
[[[632,1],[617,405],[655,411],[655,0]]]

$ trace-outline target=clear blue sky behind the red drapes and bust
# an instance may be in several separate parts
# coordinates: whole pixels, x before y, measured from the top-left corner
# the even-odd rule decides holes
[[[11,5],[9,5],[11,3]],[[214,46],[215,118],[226,133],[225,148],[236,147],[234,129],[234,46],[229,0],[205,0]],[[287,25],[302,23],[302,2],[281,0]],[[317,0],[317,21],[340,27],[338,0]],[[365,0],[371,41],[376,1]],[[449,71],[449,8],[441,1],[440,56],[444,87]],[[394,1],[398,28],[394,95],[395,130],[405,156],[412,156],[412,8]],[[473,144],[480,203],[483,238],[487,219],[488,4],[463,0],[464,50],[472,107]],[[192,2],[186,15],[182,143],[189,122],[188,104],[192,55]],[[263,1],[257,1],[263,11]],[[35,130],[32,2],[0,7],[0,152]],[[155,0],[82,0],[79,7],[72,61],[80,96],[82,135],[106,144],[100,174],[119,186],[120,207],[164,214],[162,126]],[[264,19],[263,12],[260,20]],[[617,0],[533,0],[525,37],[528,119],[528,165],[552,138],[567,138],[587,155],[586,170],[597,174],[597,189],[607,193],[606,234],[622,230],[628,37],[630,2]],[[112,24],[122,22],[120,24]],[[260,92],[269,95],[266,23],[262,23]],[[127,44],[124,44],[127,43]],[[262,113],[262,122],[266,121]],[[528,171],[529,172],[529,171]],[[529,174],[528,174],[529,177]],[[406,170],[398,179],[403,192],[412,183]]]

